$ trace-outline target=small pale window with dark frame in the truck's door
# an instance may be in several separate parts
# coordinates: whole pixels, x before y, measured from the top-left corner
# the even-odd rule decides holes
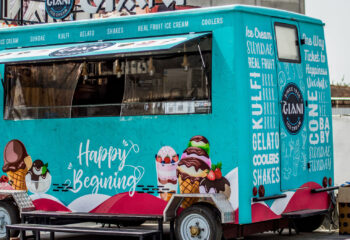
[[[300,63],[298,30],[295,25],[275,23],[278,59]]]

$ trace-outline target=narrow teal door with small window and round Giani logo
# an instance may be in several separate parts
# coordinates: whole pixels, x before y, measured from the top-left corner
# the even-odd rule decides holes
[[[298,24],[274,19],[276,70],[280,107],[281,190],[307,182],[306,81]]]

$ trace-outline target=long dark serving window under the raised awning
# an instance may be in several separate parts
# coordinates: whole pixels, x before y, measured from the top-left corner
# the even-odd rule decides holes
[[[211,37],[161,51],[7,64],[4,119],[211,113]]]

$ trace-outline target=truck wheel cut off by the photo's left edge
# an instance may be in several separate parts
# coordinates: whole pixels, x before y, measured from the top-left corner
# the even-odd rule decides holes
[[[6,239],[6,225],[19,223],[19,212],[10,202],[0,201],[0,239]],[[11,237],[18,236],[19,231],[11,231]]]

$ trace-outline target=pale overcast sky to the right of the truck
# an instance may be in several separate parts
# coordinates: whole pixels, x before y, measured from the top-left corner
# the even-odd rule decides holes
[[[326,23],[331,82],[350,85],[350,0],[305,0],[305,13]]]

